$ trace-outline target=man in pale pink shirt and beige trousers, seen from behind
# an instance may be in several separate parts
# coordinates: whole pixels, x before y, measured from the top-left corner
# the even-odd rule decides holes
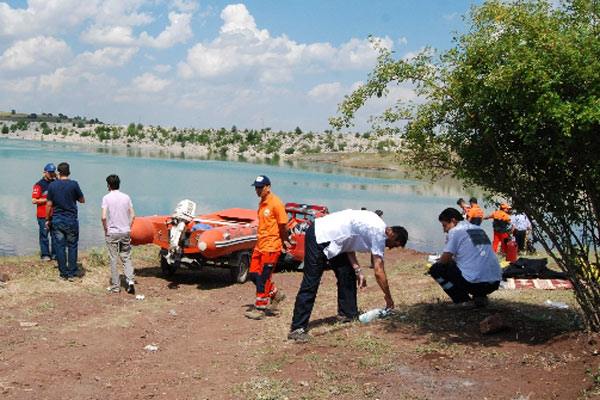
[[[129,196],[119,191],[121,180],[117,175],[109,175],[106,184],[109,192],[102,198],[102,226],[110,259],[111,283],[106,290],[113,293],[119,293],[121,290],[118,266],[120,255],[127,280],[127,293],[135,294],[130,237],[135,212]]]

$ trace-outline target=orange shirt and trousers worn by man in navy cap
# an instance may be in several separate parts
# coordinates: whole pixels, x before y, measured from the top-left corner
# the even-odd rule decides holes
[[[258,205],[258,241],[252,253],[249,278],[256,285],[255,307],[266,309],[277,294],[273,272],[283,248],[279,225],[288,221],[285,206],[273,193]]]

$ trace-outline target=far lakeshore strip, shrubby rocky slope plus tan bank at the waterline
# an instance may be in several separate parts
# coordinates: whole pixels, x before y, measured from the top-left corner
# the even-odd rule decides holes
[[[167,130],[161,127],[136,128],[136,136],[130,136],[131,126],[122,125],[77,126],[74,123],[44,121],[28,122],[25,129],[15,129],[13,125],[11,121],[0,121],[0,138],[140,149],[156,157],[181,155],[242,161],[289,160],[346,168],[404,171],[395,156],[400,138],[391,136],[371,138],[358,134]],[[103,138],[103,135],[109,138]],[[249,144],[249,140],[255,138],[257,140]]]

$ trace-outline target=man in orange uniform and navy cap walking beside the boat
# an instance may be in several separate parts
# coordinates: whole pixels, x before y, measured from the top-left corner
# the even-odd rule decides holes
[[[256,285],[254,308],[246,312],[250,319],[263,319],[269,307],[275,309],[285,300],[285,293],[273,284],[273,272],[283,246],[287,243],[287,213],[285,206],[271,193],[271,180],[259,175],[251,186],[260,197],[258,204],[258,240],[252,253],[248,277]]]

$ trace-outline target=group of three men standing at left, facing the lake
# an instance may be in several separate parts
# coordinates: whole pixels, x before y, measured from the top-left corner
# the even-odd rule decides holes
[[[70,166],[63,162],[56,167],[48,163],[44,176],[33,186],[31,201],[37,206],[39,243],[44,261],[56,260],[60,277],[73,281],[79,276],[77,253],[79,220],[77,203],[85,203],[79,183],[69,179]],[[111,285],[107,290],[120,291],[118,258],[123,262],[128,293],[135,293],[131,263],[130,231],[135,220],[131,199],[119,191],[117,175],[106,178],[109,193],[102,198],[102,225],[110,259]]]

